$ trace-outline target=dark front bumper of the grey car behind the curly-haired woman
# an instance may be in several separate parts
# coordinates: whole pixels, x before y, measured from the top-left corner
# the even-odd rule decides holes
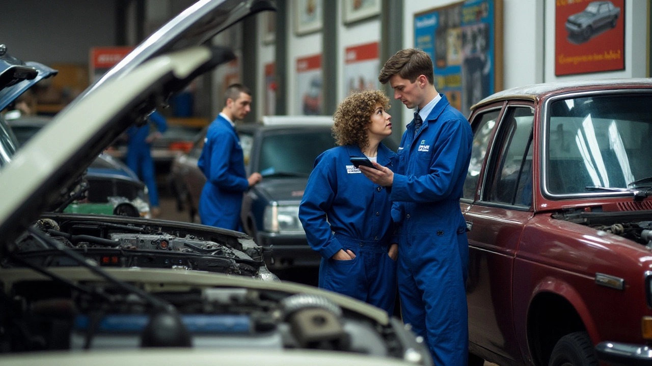
[[[258,245],[271,249],[265,255],[268,268],[316,267],[321,262],[321,255],[308,245],[305,234],[276,234],[258,232]]]

